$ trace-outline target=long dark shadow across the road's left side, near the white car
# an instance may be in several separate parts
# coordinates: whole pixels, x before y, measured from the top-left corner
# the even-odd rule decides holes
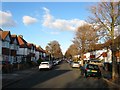
[[[37,73],[32,74],[31,76],[28,76],[27,78],[24,78],[19,82],[4,88],[31,88],[34,87],[35,85],[41,84],[47,80],[53,79],[59,75],[65,74],[70,71],[71,70],[54,70],[54,69],[38,71]]]

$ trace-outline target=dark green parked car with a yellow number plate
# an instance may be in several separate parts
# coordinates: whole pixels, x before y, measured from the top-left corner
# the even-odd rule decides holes
[[[84,77],[98,77],[101,78],[101,71],[98,65],[85,64],[82,68],[82,74]]]

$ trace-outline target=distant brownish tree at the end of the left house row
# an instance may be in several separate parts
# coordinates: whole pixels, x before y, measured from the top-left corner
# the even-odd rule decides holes
[[[51,41],[48,43],[46,46],[46,51],[51,54],[52,57],[54,58],[62,58],[62,50],[60,48],[60,44],[57,41]]]

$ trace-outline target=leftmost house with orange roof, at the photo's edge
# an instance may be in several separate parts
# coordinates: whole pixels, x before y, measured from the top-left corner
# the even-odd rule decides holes
[[[3,31],[0,30],[1,40],[2,40],[2,72],[8,73],[12,71],[12,61],[11,61],[11,49],[10,49],[10,43],[11,43],[11,33],[10,31]]]

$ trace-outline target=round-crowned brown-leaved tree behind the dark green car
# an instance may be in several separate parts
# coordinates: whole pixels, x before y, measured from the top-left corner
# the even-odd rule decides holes
[[[88,50],[93,50],[93,45],[98,41],[97,29],[90,25],[84,24],[80,26],[76,32],[76,36],[73,40],[74,44],[78,47],[81,53],[81,65],[83,66],[84,53]]]

